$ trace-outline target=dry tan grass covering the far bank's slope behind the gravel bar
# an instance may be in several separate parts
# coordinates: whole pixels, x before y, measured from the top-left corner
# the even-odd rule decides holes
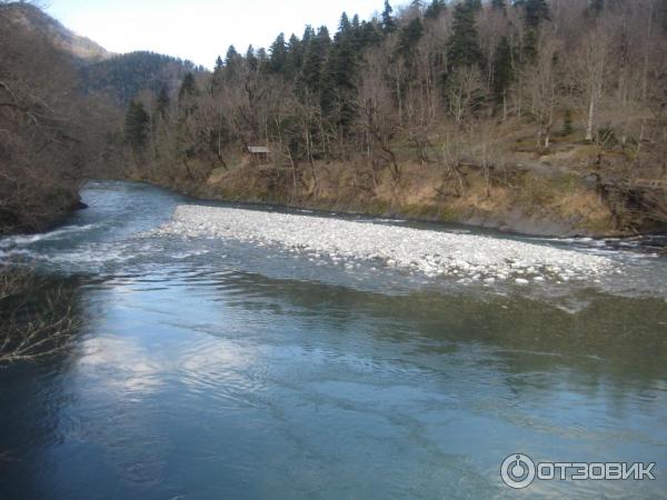
[[[578,156],[589,154],[587,148],[556,154],[549,176],[508,167],[514,173],[496,169],[488,179],[480,168],[465,168],[456,174],[437,163],[412,161],[400,164],[397,182],[388,167],[376,163],[374,168],[357,158],[318,161],[315,177],[310,164],[301,163],[295,184],[289,168],[258,168],[241,161],[235,168],[213,170],[198,194],[464,223],[484,220],[518,231],[524,219],[531,220],[531,227],[556,222],[568,233],[610,234],[615,232],[613,217],[599,196],[578,176],[555,174],[560,163],[573,164]]]

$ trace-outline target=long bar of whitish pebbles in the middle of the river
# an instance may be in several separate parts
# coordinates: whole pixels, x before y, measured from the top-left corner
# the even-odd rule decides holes
[[[377,262],[427,277],[450,276],[460,282],[595,281],[615,269],[604,256],[571,249],[323,217],[236,208],[179,206],[170,222],[147,236],[235,239],[278,244],[335,263],[350,259]]]

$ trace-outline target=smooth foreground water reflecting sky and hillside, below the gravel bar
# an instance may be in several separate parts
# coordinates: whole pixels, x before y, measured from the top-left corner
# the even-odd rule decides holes
[[[568,313],[243,273],[165,280],[88,288],[97,319],[70,358],[54,428],[77,450],[70,467],[87,468],[91,450],[108,466],[68,484],[101,481],[126,498],[504,496],[497,462],[512,450],[661,456],[658,302],[598,296]],[[56,470],[44,482],[70,491]],[[628,491],[615,488],[576,491]]]

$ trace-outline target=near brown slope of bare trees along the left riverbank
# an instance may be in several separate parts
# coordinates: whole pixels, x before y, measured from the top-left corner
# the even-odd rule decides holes
[[[44,19],[0,3],[0,233],[53,223],[87,176],[122,156],[119,110],[81,94],[78,64]]]

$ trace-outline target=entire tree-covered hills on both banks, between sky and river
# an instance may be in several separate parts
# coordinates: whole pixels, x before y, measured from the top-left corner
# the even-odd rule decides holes
[[[2,22],[3,227],[38,228],[54,211],[41,200],[67,210],[78,183],[107,177],[526,232],[502,219],[664,227],[667,0],[378,8],[342,13],[336,32],[229,47],[211,71],[150,52],[72,58]]]

